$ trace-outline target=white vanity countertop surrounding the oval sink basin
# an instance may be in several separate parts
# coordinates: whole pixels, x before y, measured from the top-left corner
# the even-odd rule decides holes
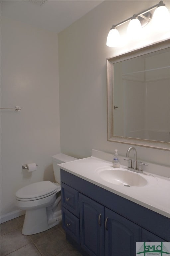
[[[112,162],[94,156],[59,164],[60,168],[89,181],[99,187],[122,196],[134,203],[170,218],[170,179],[151,173],[157,184],[142,187],[124,187],[103,180],[97,173],[97,168],[110,168]],[[125,166],[120,166],[124,167]],[[149,174],[143,171],[144,175]]]

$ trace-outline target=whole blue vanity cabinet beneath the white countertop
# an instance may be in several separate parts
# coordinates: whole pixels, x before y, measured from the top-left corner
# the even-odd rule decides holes
[[[62,225],[82,255],[133,256],[136,242],[170,241],[169,218],[67,171],[60,173]]]

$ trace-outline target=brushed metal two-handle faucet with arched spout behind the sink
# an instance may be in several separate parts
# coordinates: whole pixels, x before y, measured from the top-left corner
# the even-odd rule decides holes
[[[142,173],[143,172],[142,165],[147,165],[147,164],[144,164],[142,162],[138,162],[137,164],[137,152],[134,147],[128,148],[126,157],[129,157],[129,153],[131,150],[133,150],[133,161],[132,159],[124,159],[124,160],[128,160],[128,170]]]

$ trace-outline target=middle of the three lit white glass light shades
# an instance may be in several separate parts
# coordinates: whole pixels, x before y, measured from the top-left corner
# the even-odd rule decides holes
[[[132,19],[127,28],[127,36],[130,40],[137,40],[141,36],[141,23],[138,19]]]

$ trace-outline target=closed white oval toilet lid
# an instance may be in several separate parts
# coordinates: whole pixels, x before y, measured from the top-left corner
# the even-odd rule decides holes
[[[58,187],[50,181],[40,181],[19,189],[16,192],[18,199],[28,200],[37,199],[51,195],[57,191]]]

